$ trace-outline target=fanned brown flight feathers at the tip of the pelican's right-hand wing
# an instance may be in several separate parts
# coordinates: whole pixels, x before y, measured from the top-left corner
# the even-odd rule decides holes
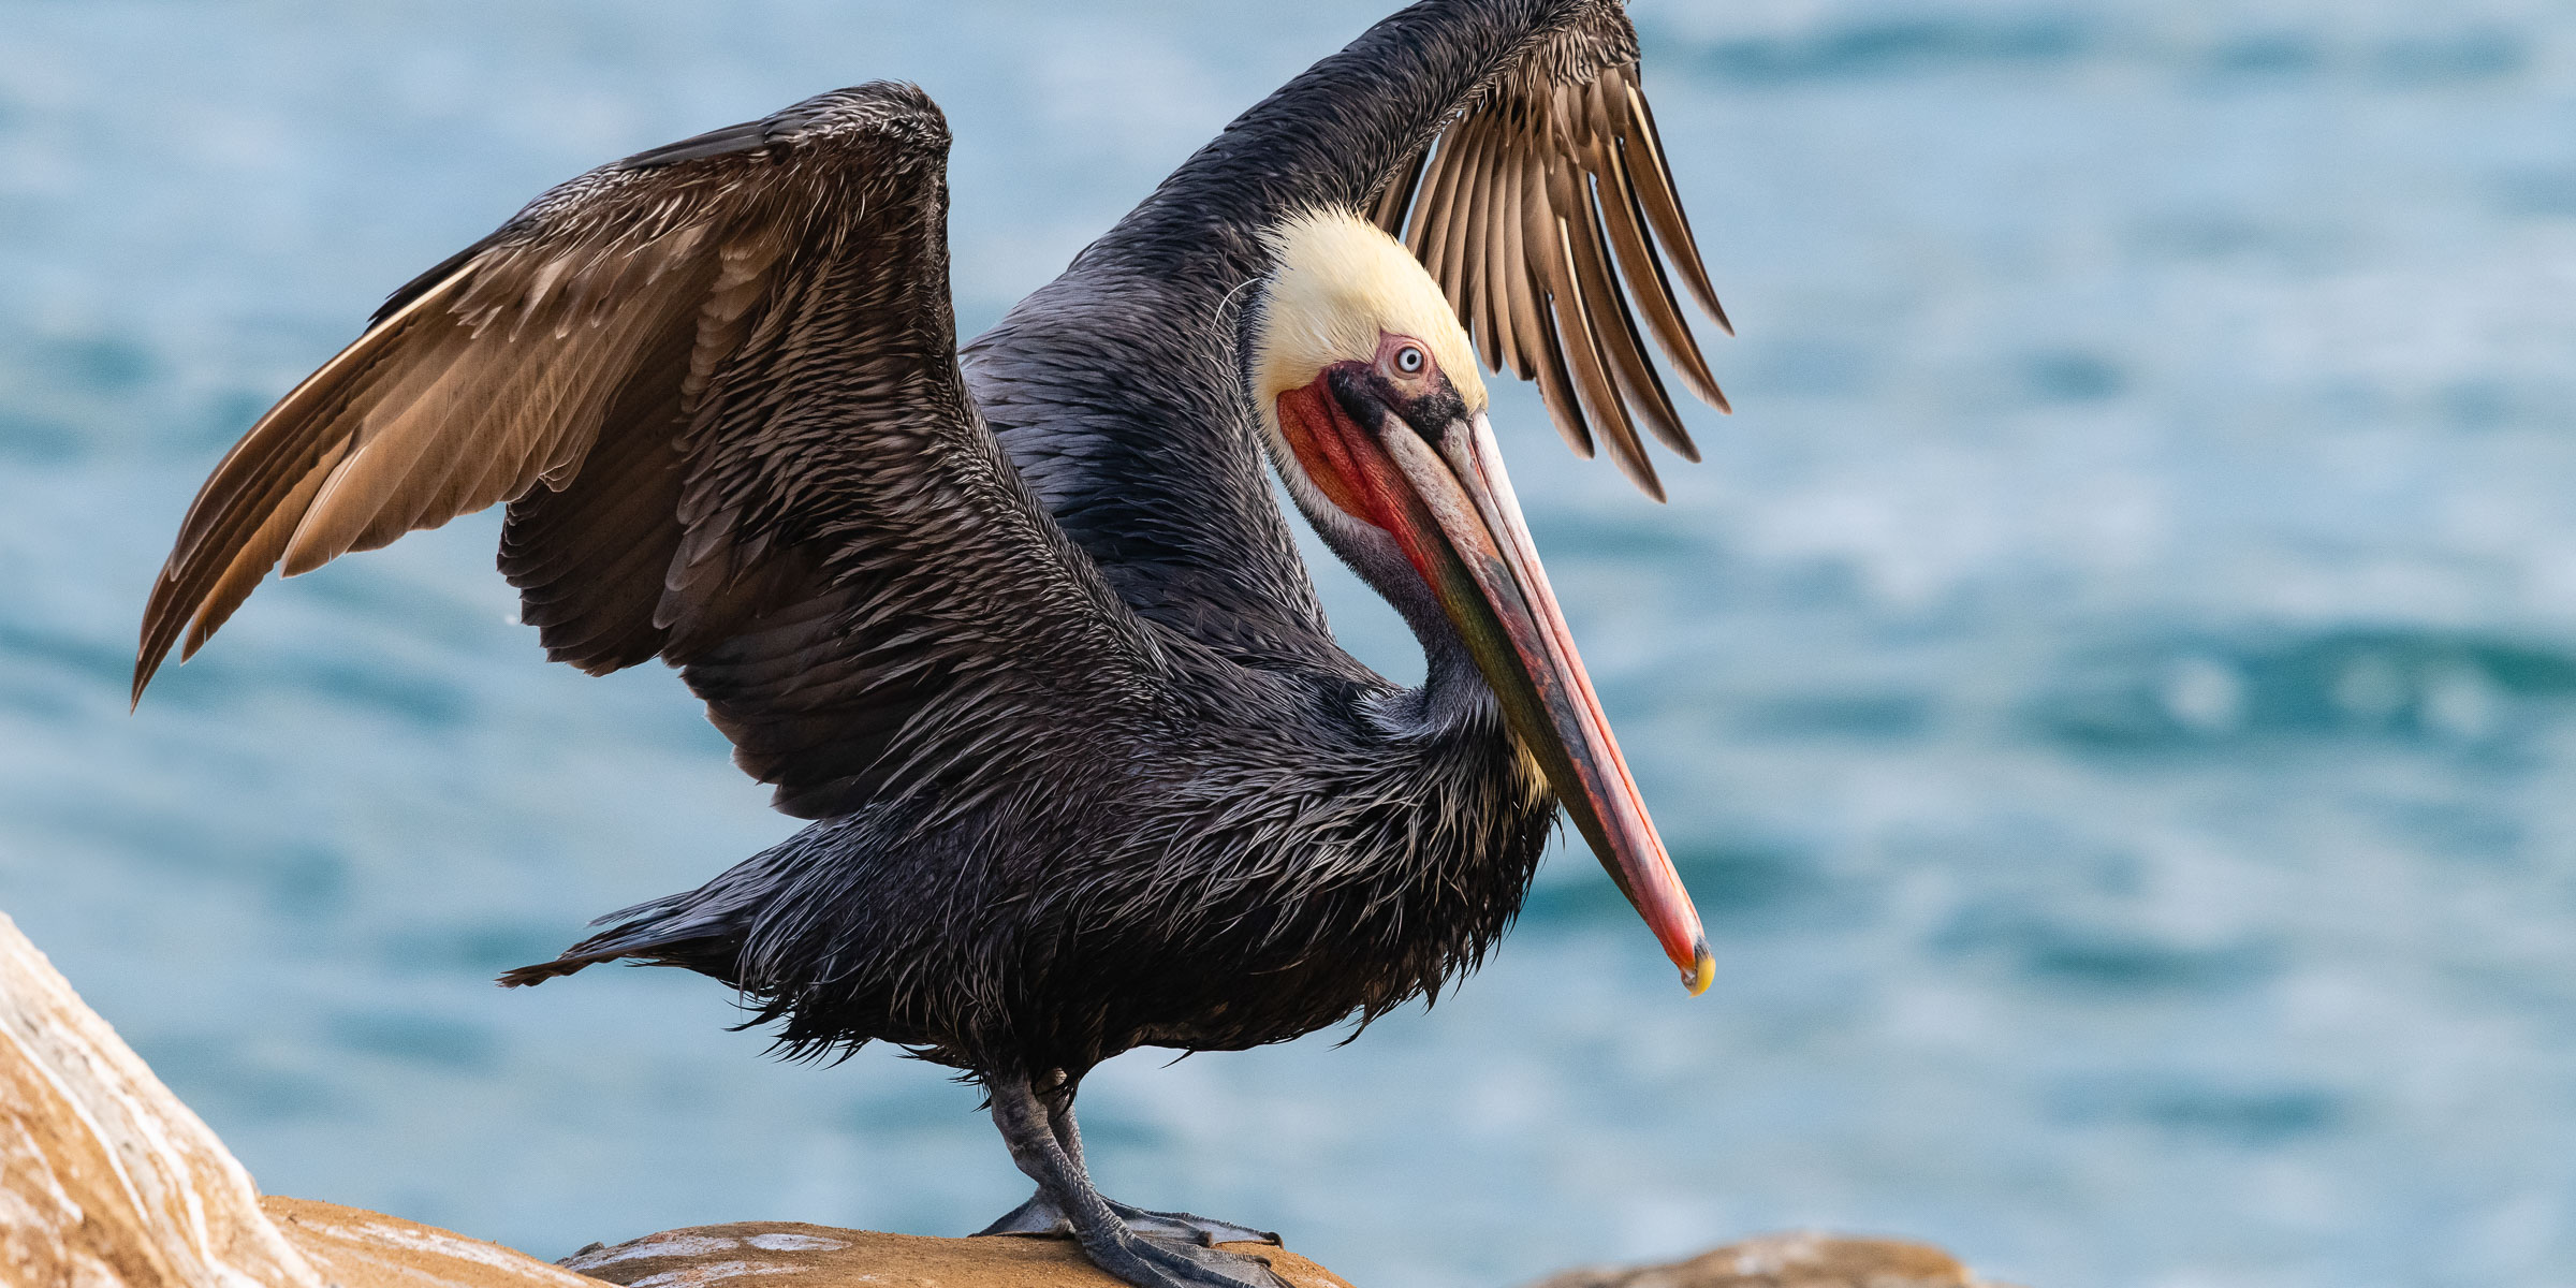
[[[1486,85],[1396,170],[1370,214],[1440,281],[1486,371],[1535,379],[1577,453],[1592,456],[1597,428],[1620,471],[1664,500],[1638,425],[1690,461],[1700,448],[1646,358],[1646,332],[1685,389],[1728,410],[1672,270],[1718,327],[1734,327],[1638,85],[1636,31],[1623,13],[1605,18],[1615,21],[1569,28]]]

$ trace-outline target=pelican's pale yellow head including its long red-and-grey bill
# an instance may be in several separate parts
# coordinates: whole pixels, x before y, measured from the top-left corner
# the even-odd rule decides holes
[[[1399,608],[1437,605],[1682,981],[1708,989],[1700,914],[1538,567],[1458,314],[1412,252],[1342,211],[1285,222],[1270,252],[1249,384],[1291,497]]]

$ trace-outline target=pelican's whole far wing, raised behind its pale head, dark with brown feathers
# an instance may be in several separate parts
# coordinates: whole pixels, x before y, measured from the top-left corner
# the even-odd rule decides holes
[[[1350,667],[1273,502],[1236,350],[1262,232],[1316,206],[1414,232],[1486,358],[1662,497],[1638,420],[1695,451],[1631,299],[1682,384],[1723,399],[1667,281],[1716,314],[1636,59],[1618,0],[1419,0],[1234,118],[966,348],[1012,461],[1139,613],[1252,665]]]

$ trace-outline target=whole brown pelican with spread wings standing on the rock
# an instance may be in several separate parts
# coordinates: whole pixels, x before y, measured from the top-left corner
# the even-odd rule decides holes
[[[1636,62],[1615,0],[1422,0],[963,350],[917,88],[580,175],[224,456],[134,693],[276,564],[507,502],[500,572],[546,654],[680,667],[814,824],[505,981],[688,966],[788,1051],[899,1043],[971,1074],[1038,1182],[992,1231],[1069,1231],[1136,1285],[1275,1283],[1213,1249],[1252,1231],[1092,1188],[1087,1069],[1437,997],[1558,806],[1710,981],[1476,371],[1535,379],[1651,495],[1638,425],[1695,451],[1643,337],[1723,407]],[[1334,647],[1262,456],[1412,623],[1419,688]]]

